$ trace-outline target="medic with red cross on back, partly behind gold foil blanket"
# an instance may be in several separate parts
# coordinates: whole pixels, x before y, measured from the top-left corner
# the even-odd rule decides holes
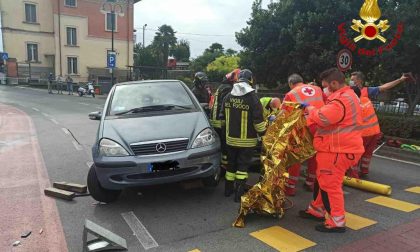
[[[324,98],[321,88],[303,83],[302,76],[292,74],[288,78],[290,92],[286,94],[283,101],[306,103],[315,108],[320,108],[324,105]],[[316,124],[307,119],[307,126],[312,135],[315,134]],[[315,157],[308,159],[308,170],[306,174],[305,188],[308,191],[313,191],[316,179],[316,160]],[[295,164],[288,168],[289,178],[286,182],[286,195],[294,196],[296,194],[296,184],[300,175],[301,164]]]

